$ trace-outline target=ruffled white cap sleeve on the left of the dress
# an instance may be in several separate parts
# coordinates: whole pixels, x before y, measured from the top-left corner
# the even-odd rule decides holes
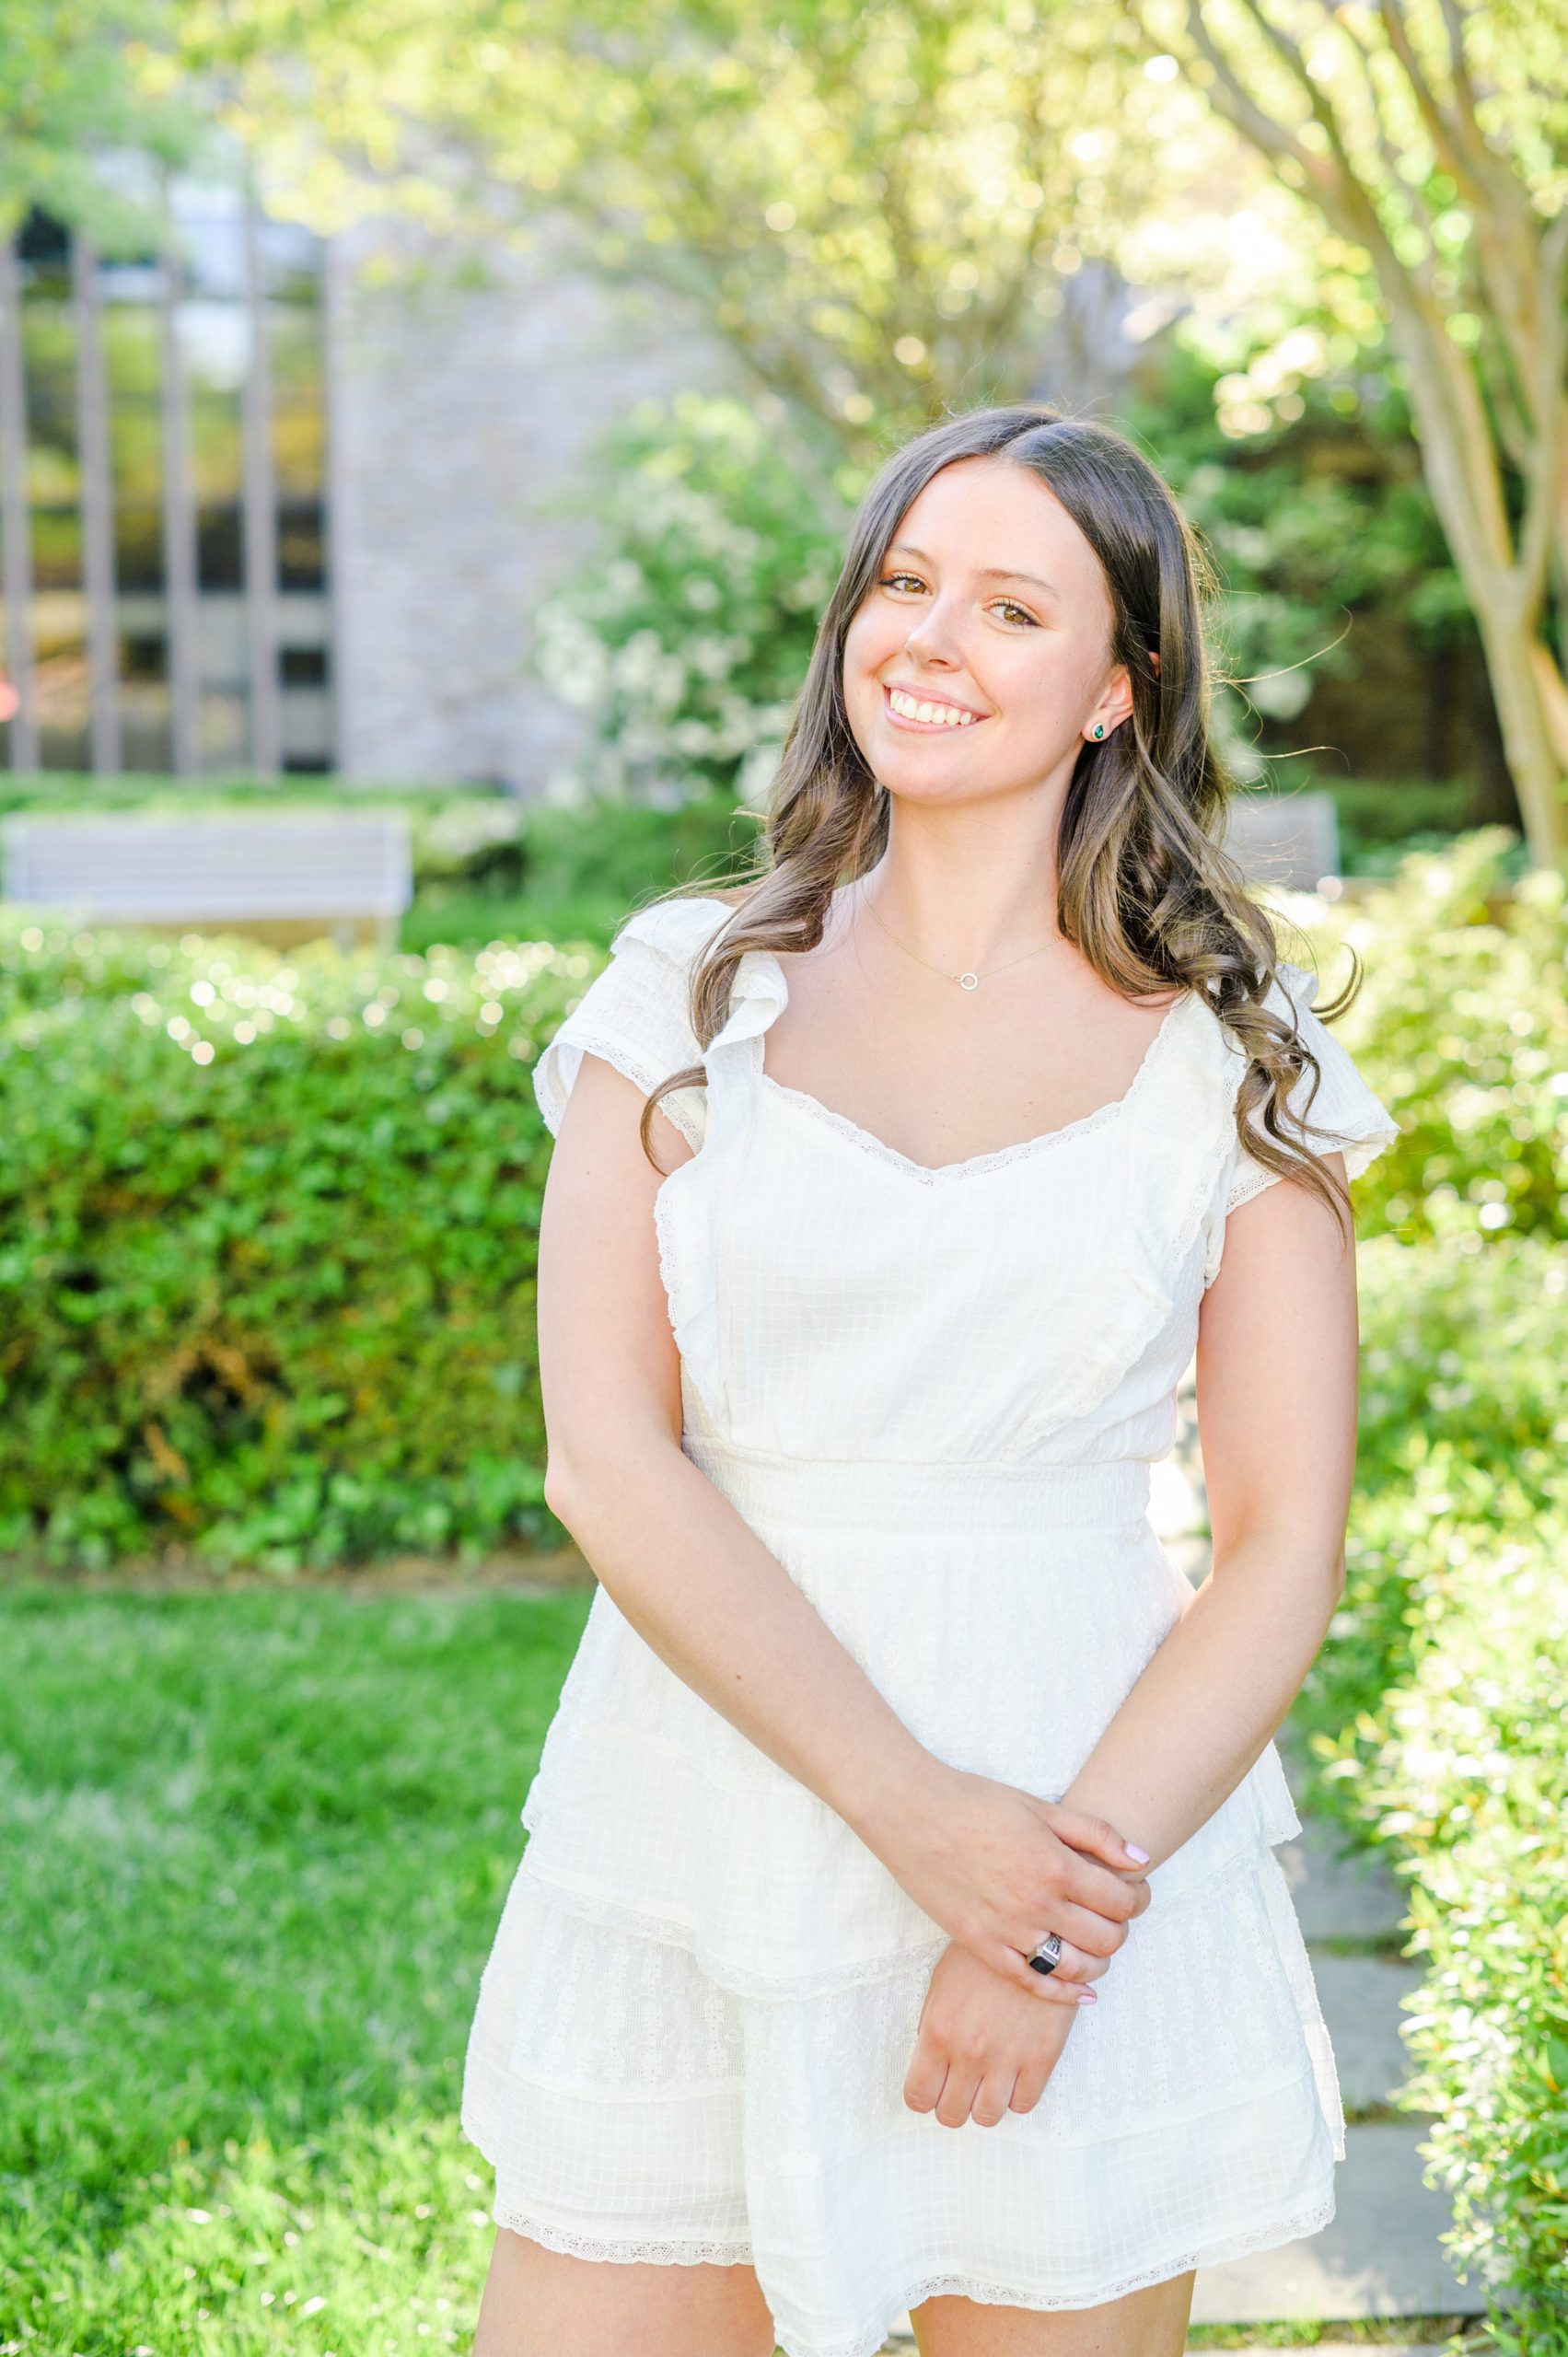
[[[691,966],[731,915],[724,900],[660,900],[627,917],[608,966],[533,1065],[533,1096],[552,1136],[559,1136],[585,1056],[604,1056],[644,1091],[703,1061],[689,1014]],[[693,1150],[703,1146],[700,1087],[677,1089],[660,1110]]]

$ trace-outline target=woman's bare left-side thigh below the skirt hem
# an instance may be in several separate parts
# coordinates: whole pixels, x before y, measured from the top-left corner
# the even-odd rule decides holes
[[[773,2357],[750,2267],[571,2258],[495,2230],[474,2357]]]

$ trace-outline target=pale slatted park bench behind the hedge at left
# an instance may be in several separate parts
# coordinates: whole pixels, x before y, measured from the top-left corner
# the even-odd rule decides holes
[[[73,922],[259,933],[330,933],[391,948],[413,900],[401,811],[191,811],[0,820],[0,891]]]

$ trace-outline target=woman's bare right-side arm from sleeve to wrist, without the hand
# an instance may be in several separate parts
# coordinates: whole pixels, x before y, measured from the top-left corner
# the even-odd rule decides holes
[[[1335,1214],[1290,1178],[1264,1188],[1228,1219],[1198,1332],[1212,1572],[1063,1794],[1155,1864],[1259,1758],[1344,1593],[1356,1346]]]

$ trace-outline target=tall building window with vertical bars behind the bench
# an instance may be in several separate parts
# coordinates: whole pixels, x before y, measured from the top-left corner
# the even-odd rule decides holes
[[[174,181],[104,257],[0,257],[0,761],[332,766],[323,247]],[[12,709],[12,705],[17,709]]]

